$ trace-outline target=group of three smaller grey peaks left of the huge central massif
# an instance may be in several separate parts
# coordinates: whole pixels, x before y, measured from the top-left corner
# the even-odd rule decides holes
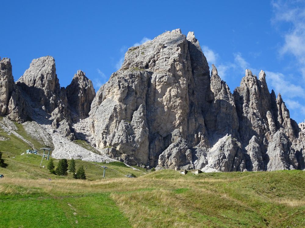
[[[1,60],[1,116],[14,121],[28,119],[51,124],[64,136],[74,138],[73,123],[88,117],[95,96],[92,82],[77,71],[71,84],[61,88],[51,56],[34,59],[14,82],[10,60]]]

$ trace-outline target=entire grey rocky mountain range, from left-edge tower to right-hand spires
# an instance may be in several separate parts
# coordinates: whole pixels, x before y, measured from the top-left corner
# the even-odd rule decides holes
[[[1,60],[2,116],[44,120],[128,164],[203,171],[305,168],[305,125],[290,118],[280,94],[269,92],[264,71],[257,78],[246,70],[231,93],[214,65],[210,73],[193,32],[175,29],[129,48],[96,95],[82,71],[60,88],[50,56],[33,60],[16,84],[7,62]]]

